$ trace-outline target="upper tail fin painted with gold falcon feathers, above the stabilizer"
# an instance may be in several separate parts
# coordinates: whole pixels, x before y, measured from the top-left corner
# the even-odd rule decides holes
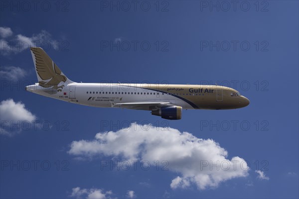
[[[40,78],[40,84],[46,84],[50,80],[52,80],[52,84],[59,84],[59,82],[66,80],[59,67],[41,48],[31,47],[30,50],[34,58],[36,73]]]

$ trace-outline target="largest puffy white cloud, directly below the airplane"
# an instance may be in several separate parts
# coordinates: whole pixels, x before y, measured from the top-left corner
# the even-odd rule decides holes
[[[174,128],[165,131],[136,123],[116,132],[97,133],[94,140],[73,141],[68,153],[88,158],[118,156],[152,164],[167,161],[167,169],[179,174],[170,184],[172,189],[192,184],[200,190],[217,187],[223,181],[246,177],[249,170],[244,159],[227,159],[227,151],[214,140],[200,139]]]

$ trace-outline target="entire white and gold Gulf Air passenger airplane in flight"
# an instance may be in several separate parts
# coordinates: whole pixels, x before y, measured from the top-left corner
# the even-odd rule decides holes
[[[77,83],[46,52],[30,48],[38,83],[26,91],[95,107],[149,110],[163,119],[181,119],[182,109],[235,109],[249,104],[238,91],[217,85]]]

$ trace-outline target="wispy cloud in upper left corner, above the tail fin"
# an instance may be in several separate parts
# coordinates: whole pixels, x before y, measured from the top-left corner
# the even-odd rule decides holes
[[[59,42],[54,40],[51,34],[45,30],[41,30],[40,33],[33,34],[31,37],[18,34],[9,41],[6,39],[0,40],[1,55],[4,56],[10,55],[11,53],[20,53],[32,46],[43,47],[44,49],[52,47],[58,50]]]

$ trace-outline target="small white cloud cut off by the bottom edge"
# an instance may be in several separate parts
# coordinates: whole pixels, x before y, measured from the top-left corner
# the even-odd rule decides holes
[[[101,189],[81,189],[80,187],[76,187],[72,189],[71,197],[84,197],[86,199],[107,199],[111,198],[109,195],[112,194],[112,191],[104,192]]]

